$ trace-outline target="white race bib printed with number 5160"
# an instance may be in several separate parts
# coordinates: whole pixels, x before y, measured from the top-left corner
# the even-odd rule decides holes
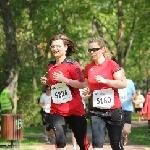
[[[93,92],[93,107],[110,109],[114,106],[114,90],[102,89]]]

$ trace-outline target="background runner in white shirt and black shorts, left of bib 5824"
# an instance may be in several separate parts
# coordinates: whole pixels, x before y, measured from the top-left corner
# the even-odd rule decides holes
[[[45,93],[42,94],[39,101],[39,106],[43,109],[42,119],[45,125],[46,141],[47,144],[55,142],[55,134],[50,125],[49,115],[51,108],[51,87],[46,85]]]

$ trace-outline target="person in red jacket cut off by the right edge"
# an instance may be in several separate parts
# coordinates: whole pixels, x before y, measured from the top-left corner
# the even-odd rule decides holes
[[[150,140],[150,88],[148,89],[148,93],[145,97],[145,105],[142,108],[142,116],[144,117],[146,114],[148,121],[148,140]]]

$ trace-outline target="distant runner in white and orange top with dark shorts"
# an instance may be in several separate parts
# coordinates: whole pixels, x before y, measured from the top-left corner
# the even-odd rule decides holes
[[[142,93],[142,91],[140,89],[138,89],[136,91],[136,96],[135,96],[135,99],[133,101],[134,107],[135,107],[135,112],[138,115],[138,121],[139,122],[141,121],[141,111],[143,108],[143,103],[145,102],[145,98],[141,93]]]

